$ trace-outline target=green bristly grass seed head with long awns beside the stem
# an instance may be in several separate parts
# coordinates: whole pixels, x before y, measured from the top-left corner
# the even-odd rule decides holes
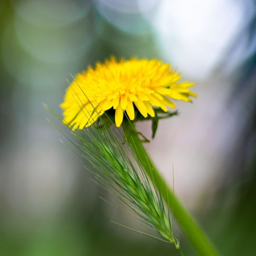
[[[61,116],[47,105],[44,107],[63,124]],[[83,160],[85,169],[94,174],[93,181],[122,201],[122,205],[108,202],[119,209],[125,207],[125,212],[139,219],[149,232],[131,227],[127,227],[128,229],[173,243],[180,250],[179,239],[173,234],[172,213],[165,207],[157,183],[151,183],[147,175],[150,170],[145,171],[141,159],[127,143],[122,130],[116,128],[110,119],[108,121],[100,118],[97,125],[75,131],[65,124],[78,143],[74,143],[60,128],[53,123],[52,125],[66,138],[65,145]],[[145,158],[143,160],[147,161]],[[154,176],[149,160],[147,166],[151,168],[151,174]]]

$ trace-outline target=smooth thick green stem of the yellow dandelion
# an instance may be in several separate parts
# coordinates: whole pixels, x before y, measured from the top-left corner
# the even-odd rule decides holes
[[[151,178],[151,181],[158,186],[162,197],[165,199],[169,209],[173,212],[179,226],[195,247],[195,250],[202,256],[217,256],[218,253],[209,241],[208,237],[193,220],[189,212],[187,212],[187,210],[180,204],[180,201],[176,198],[172,190],[169,189],[162,175],[154,166],[154,163],[143,147],[134,122],[130,123],[124,120],[122,128],[127,143],[133,149],[134,154],[136,154],[138,159],[142,162],[145,172]]]

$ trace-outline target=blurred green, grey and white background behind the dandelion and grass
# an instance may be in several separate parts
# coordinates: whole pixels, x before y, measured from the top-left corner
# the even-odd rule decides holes
[[[178,255],[98,196],[46,121],[66,79],[110,55],[196,82],[146,147],[221,255],[256,255],[255,1],[0,0],[0,255]],[[138,124],[150,137],[150,123]],[[172,180],[172,168],[174,177]],[[176,227],[184,255],[195,251]]]

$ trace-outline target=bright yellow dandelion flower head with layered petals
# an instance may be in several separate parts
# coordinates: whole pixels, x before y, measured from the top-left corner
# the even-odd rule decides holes
[[[83,129],[113,108],[119,127],[124,111],[134,120],[134,105],[144,117],[154,117],[152,106],[168,111],[166,106],[176,108],[170,98],[192,102],[189,96],[197,96],[188,89],[194,83],[179,80],[180,74],[162,61],[111,57],[76,75],[61,104],[64,120],[73,129]]]

